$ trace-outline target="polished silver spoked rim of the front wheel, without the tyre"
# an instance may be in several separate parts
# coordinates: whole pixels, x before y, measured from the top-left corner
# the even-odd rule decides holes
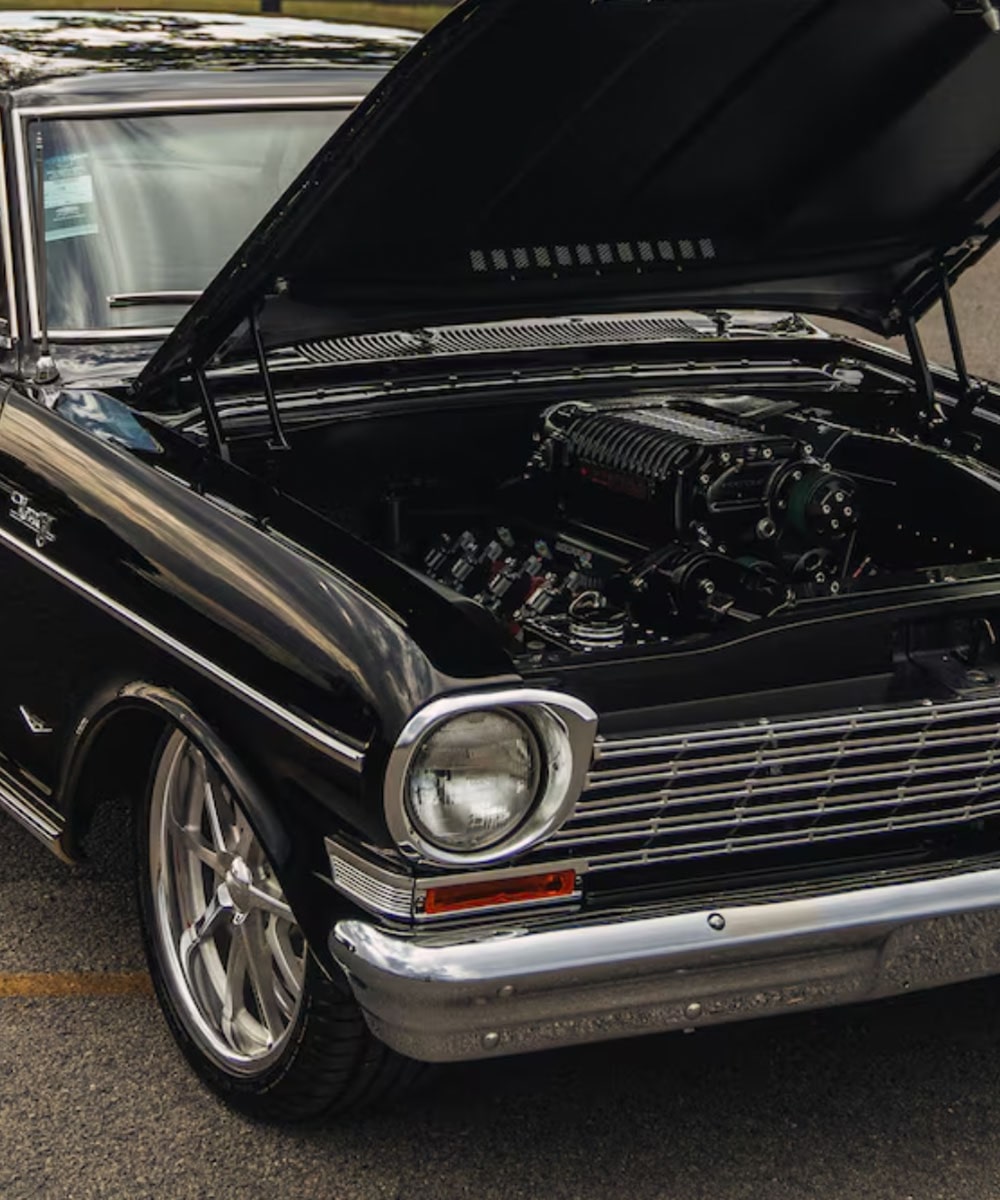
[[[180,731],[149,808],[154,936],[179,1015],[223,1072],[255,1076],[286,1048],[305,938],[230,786]]]

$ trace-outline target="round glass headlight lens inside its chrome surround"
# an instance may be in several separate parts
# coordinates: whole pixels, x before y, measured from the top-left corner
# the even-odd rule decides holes
[[[406,806],[423,838],[442,850],[484,850],[507,839],[538,797],[541,756],[510,712],[474,710],[442,721],[418,746]]]

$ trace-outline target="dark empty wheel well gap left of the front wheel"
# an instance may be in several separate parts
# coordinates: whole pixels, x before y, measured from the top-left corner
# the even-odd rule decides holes
[[[131,860],[131,817],[170,719],[148,706],[106,716],[78,750],[66,792],[65,848],[73,859]]]

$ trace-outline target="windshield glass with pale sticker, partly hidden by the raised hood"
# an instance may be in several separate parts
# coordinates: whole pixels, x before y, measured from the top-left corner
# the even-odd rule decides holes
[[[50,331],[176,324],[346,116],[285,108],[44,120]],[[32,146],[37,127],[28,126]]]

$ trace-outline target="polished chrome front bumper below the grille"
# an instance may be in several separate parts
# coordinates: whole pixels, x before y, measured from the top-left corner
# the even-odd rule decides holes
[[[697,1028],[1000,973],[1000,870],[819,898],[330,949],[369,1025],[427,1062]]]

